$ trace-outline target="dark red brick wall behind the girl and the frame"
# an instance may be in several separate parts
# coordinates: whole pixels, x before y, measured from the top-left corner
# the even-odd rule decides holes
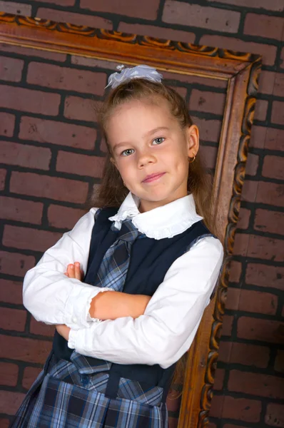
[[[0,1],[0,10],[14,14],[263,55],[210,428],[284,427],[283,9],[283,0]],[[73,227],[99,183],[104,146],[92,100],[114,65],[4,44],[0,53],[2,428],[39,373],[53,333],[24,310],[22,278]],[[165,77],[188,100],[213,168],[224,86]],[[177,414],[173,407],[172,427]]]

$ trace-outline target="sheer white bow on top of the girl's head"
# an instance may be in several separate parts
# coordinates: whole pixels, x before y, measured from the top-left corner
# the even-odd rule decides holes
[[[146,78],[152,82],[160,83],[162,81],[163,75],[156,71],[156,68],[150,66],[136,66],[133,68],[124,68],[124,66],[117,66],[116,68],[121,71],[121,73],[112,73],[108,78],[108,86],[111,88],[116,88],[121,83],[130,81],[131,78]]]

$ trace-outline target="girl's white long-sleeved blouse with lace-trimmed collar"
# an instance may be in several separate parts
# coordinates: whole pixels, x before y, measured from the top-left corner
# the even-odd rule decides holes
[[[109,220],[121,228],[131,218],[149,238],[171,238],[202,217],[193,195],[146,213],[138,210],[132,193]],[[201,317],[210,302],[223,263],[223,245],[210,236],[201,238],[169,267],[143,315],[96,320],[88,315],[91,300],[108,287],[88,285],[66,277],[67,265],[76,261],[86,273],[94,214],[91,208],[73,229],[46,250],[35,267],[26,272],[24,306],[37,321],[71,327],[69,347],[82,355],[118,364],[159,364],[167,368],[189,349]]]

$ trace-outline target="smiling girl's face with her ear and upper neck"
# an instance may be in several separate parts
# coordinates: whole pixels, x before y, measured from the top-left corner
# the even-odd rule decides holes
[[[198,128],[183,130],[163,98],[129,101],[108,119],[111,161],[145,212],[187,195],[188,156],[199,148]],[[194,154],[193,154],[194,153]]]

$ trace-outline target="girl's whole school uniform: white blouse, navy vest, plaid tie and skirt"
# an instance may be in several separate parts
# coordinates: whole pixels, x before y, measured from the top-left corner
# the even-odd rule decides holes
[[[69,342],[56,332],[11,427],[168,427],[176,362],[211,300],[223,246],[193,195],[146,213],[138,204],[129,193],[119,210],[91,208],[26,273],[27,309],[71,332]],[[64,275],[75,261],[84,283]],[[91,300],[106,290],[153,297],[136,319],[93,319]]]

